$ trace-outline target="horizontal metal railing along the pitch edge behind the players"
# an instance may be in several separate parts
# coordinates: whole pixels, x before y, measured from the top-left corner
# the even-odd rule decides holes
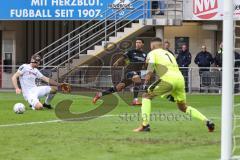
[[[12,83],[9,80],[17,71],[18,67],[19,66],[2,66],[3,72],[2,78],[0,78],[2,88],[13,88]],[[61,66],[39,67],[39,69],[42,69],[41,72],[47,77],[52,77],[52,73],[58,72],[58,68],[61,68]],[[183,71],[182,73],[185,77],[185,86],[188,93],[202,92],[221,94],[221,68],[189,67],[181,68],[181,70]],[[124,71],[124,67],[113,68],[111,66],[78,66],[76,72],[74,72],[74,74],[67,75],[63,81],[79,87],[103,89],[112,86],[123,79],[125,73]],[[56,79],[59,80],[61,78],[62,77],[57,76]],[[235,93],[240,93],[240,68],[234,69],[234,91]]]

